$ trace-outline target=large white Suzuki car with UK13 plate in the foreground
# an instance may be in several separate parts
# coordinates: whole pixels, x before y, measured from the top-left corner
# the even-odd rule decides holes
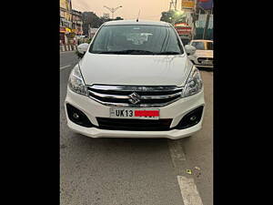
[[[143,37],[143,35],[147,37]],[[91,138],[184,138],[202,127],[200,73],[166,22],[102,25],[72,70],[67,126]],[[186,51],[187,50],[187,51]]]

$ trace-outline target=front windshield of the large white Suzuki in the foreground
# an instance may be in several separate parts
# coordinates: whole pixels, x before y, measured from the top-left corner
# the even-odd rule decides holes
[[[102,26],[90,53],[124,55],[183,54],[178,36],[171,26]]]

